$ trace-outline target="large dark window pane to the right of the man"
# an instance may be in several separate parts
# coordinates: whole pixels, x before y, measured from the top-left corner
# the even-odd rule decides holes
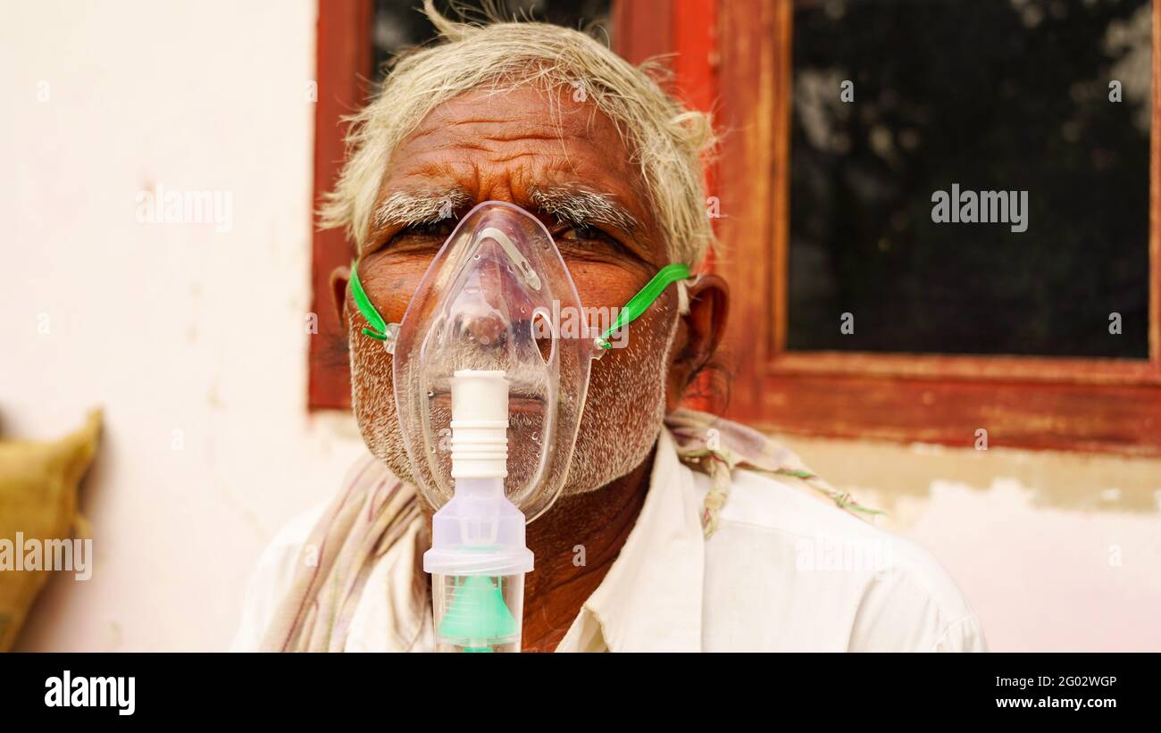
[[[1147,357],[1151,35],[1148,0],[796,2],[789,348]],[[953,184],[1024,224],[933,222]]]

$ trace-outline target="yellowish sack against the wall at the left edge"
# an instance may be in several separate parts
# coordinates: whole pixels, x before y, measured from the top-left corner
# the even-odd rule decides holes
[[[88,534],[77,514],[77,487],[96,452],[100,431],[101,413],[93,411],[85,427],[55,443],[0,441],[0,652],[16,641],[49,578],[44,569],[15,569],[10,553],[23,551],[15,546],[17,532],[23,543],[42,546],[67,539],[73,529]]]

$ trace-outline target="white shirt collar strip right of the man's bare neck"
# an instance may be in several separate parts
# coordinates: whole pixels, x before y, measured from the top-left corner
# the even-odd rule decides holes
[[[557,651],[700,651],[704,563],[693,476],[662,429],[636,524]]]

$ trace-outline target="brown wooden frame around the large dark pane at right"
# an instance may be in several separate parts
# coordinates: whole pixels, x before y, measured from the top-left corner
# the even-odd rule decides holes
[[[765,430],[1161,455],[1159,3],[1153,3],[1148,358],[789,351],[787,255],[793,0],[719,7],[717,271],[734,292],[730,416]],[[751,297],[764,293],[766,297]],[[771,303],[773,318],[771,318]]]

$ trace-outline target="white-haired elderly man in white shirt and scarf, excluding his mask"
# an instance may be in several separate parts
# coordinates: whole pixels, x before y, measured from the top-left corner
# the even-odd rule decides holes
[[[457,220],[488,201],[543,224],[586,306],[626,304],[671,263],[697,271],[712,244],[704,115],[583,34],[426,12],[444,43],[403,58],[359,115],[324,212],[358,257],[358,280],[345,268],[333,282],[370,456],[266,551],[238,649],[435,648],[433,510],[392,355],[362,335],[377,332],[356,295],[399,322]],[[593,362],[563,489],[527,527],[524,649],[982,649],[925,552],[757,433],[678,408],[727,303],[714,275],[671,284]]]

